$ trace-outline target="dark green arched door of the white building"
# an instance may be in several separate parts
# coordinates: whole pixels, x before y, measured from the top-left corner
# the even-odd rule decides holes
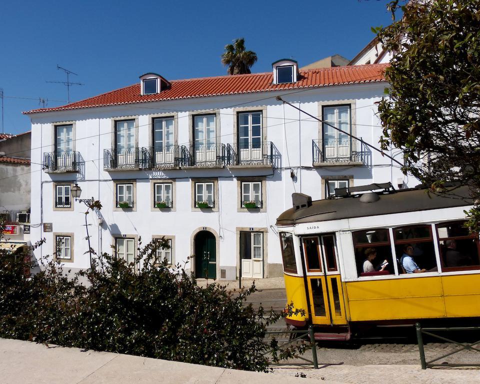
[[[201,230],[195,235],[195,277],[216,278],[216,240],[213,233]]]

